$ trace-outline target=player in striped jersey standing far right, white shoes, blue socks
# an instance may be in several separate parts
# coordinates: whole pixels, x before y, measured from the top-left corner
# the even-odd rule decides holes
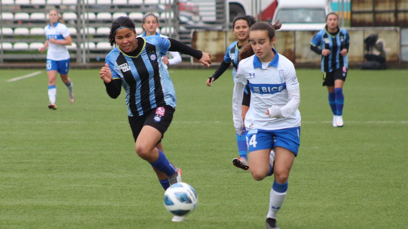
[[[343,85],[347,76],[349,42],[347,31],[339,28],[336,13],[326,16],[326,26],[310,42],[310,49],[322,55],[323,86],[327,86],[329,92],[334,127],[343,127]]]

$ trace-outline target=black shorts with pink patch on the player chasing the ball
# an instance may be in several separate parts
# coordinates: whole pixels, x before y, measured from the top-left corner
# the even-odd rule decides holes
[[[151,109],[149,112],[146,112],[146,114],[141,116],[128,116],[129,125],[132,129],[132,134],[135,141],[143,126],[152,126],[162,133],[163,138],[164,132],[166,132],[167,128],[170,126],[171,120],[173,120],[174,112],[175,109],[171,106],[162,106]]]

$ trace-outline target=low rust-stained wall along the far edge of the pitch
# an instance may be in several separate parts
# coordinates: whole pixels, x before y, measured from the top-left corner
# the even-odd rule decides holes
[[[295,64],[320,64],[321,55],[310,50],[310,40],[318,31],[277,31],[278,53]],[[387,62],[399,62],[401,55],[400,31],[398,28],[351,28],[349,63],[364,62],[364,39],[377,33],[384,40]],[[226,41],[225,39],[228,38]],[[213,62],[222,62],[227,46],[235,41],[231,32],[197,31],[193,33],[193,48],[211,53]],[[227,42],[227,44],[226,44]]]

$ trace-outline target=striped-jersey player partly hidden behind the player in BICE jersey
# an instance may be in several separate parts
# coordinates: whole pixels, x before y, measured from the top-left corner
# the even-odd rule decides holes
[[[225,72],[231,65],[233,64],[233,70],[232,70],[232,77],[234,79],[235,83],[235,73],[236,73],[236,68],[238,65],[238,55],[239,51],[241,50],[241,47],[248,43],[249,41],[249,28],[255,24],[256,20],[250,15],[238,15],[234,18],[233,20],[233,34],[237,37],[237,40],[235,42],[232,42],[225,53],[224,56],[224,61],[221,62],[220,66],[218,69],[215,71],[213,76],[209,77],[207,79],[207,86],[211,86],[213,82],[218,79],[222,73]],[[244,98],[242,99],[242,119],[245,119],[245,114],[248,112],[249,109],[249,103],[251,101],[251,92],[248,90],[248,88],[244,89],[245,94]],[[243,170],[248,170],[248,156],[247,156],[247,145],[245,141],[245,132],[239,136],[237,134],[237,145],[238,145],[238,154],[239,157],[233,159],[233,165],[235,165],[238,168],[241,168]]]

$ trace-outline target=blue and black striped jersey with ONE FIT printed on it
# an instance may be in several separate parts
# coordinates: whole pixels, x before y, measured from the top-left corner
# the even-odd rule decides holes
[[[170,41],[157,35],[142,39],[144,45],[137,56],[126,55],[115,47],[105,58],[112,80],[122,82],[128,115],[134,117],[156,107],[176,106],[173,83],[161,61],[162,55],[170,48]]]

